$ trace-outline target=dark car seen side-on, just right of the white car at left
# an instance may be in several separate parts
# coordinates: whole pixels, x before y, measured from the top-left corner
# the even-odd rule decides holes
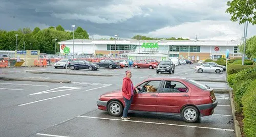
[[[73,61],[70,63],[70,69],[89,69],[89,70],[97,70],[99,69],[99,65],[90,63],[88,61]]]

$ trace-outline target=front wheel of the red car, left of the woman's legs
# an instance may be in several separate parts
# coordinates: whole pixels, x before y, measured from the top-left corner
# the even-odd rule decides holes
[[[119,101],[111,101],[108,105],[108,112],[111,116],[120,116],[123,112],[123,106]]]

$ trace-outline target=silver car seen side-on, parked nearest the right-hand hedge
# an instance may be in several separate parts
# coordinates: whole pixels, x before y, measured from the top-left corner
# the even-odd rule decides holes
[[[220,68],[220,67],[211,66],[209,64],[203,64],[201,66],[196,66],[195,67],[195,71],[198,71],[199,73],[202,73],[202,72],[216,72],[216,73],[220,73],[220,72],[223,72],[223,69]]]

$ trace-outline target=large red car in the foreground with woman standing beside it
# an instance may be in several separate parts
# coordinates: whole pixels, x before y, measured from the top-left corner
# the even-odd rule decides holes
[[[153,86],[156,92],[147,91],[145,86]],[[148,78],[135,86],[129,112],[174,115],[186,122],[196,122],[200,116],[209,116],[217,106],[212,88],[193,79],[156,77]],[[112,116],[122,115],[124,100],[122,91],[105,93],[97,100],[98,108]]]

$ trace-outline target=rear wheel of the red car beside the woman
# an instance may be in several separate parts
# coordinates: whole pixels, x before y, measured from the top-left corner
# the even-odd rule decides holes
[[[181,117],[186,122],[194,123],[199,119],[199,111],[194,106],[186,106],[182,109]]]

